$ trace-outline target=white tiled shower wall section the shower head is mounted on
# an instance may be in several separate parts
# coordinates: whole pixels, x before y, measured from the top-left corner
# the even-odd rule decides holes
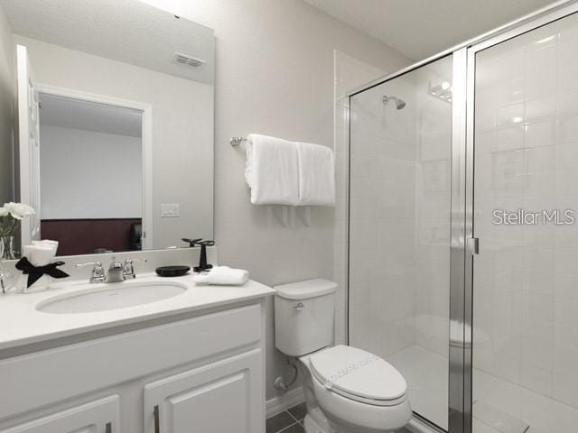
[[[405,78],[351,100],[350,343],[380,356],[415,344],[415,114]]]

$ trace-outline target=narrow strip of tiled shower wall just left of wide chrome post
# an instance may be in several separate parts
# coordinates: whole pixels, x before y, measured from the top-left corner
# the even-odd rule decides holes
[[[430,93],[451,83],[451,57],[415,71],[415,344],[444,357],[450,315],[452,103]]]

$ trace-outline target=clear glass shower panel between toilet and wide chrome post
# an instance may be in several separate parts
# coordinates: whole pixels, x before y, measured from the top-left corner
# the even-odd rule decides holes
[[[447,429],[452,56],[350,97],[350,345]]]

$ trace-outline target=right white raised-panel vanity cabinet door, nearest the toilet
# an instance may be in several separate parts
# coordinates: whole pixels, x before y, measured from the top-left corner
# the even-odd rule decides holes
[[[256,349],[149,383],[144,387],[144,431],[262,432],[264,402],[260,374],[261,350]]]

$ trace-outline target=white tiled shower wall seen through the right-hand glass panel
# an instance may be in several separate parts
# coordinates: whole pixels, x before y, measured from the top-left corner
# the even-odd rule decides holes
[[[473,354],[578,408],[578,225],[492,223],[494,209],[578,210],[576,46],[571,16],[478,55]]]

